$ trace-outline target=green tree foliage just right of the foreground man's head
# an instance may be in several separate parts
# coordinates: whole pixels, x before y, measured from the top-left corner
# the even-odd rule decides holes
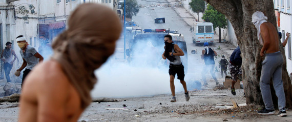
[[[124,10],[124,3],[121,4],[121,9]],[[132,18],[139,12],[137,0],[126,0],[126,17]]]

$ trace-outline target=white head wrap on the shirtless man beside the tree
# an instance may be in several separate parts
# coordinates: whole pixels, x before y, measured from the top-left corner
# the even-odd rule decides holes
[[[260,34],[261,32],[261,24],[267,22],[267,17],[264,15],[263,12],[261,11],[256,11],[253,16],[252,16],[252,23],[254,23],[254,25],[256,26],[257,30],[258,30],[258,39],[260,41],[260,44],[263,45],[263,39],[262,39],[262,36]]]

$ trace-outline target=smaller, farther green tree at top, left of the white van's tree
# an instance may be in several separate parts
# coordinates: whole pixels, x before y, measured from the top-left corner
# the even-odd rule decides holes
[[[205,2],[203,0],[192,0],[192,2],[189,3],[189,5],[191,6],[192,11],[198,14],[199,21],[199,12],[205,11]]]

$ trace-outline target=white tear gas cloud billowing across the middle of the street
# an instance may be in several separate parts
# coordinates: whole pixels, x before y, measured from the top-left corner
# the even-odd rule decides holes
[[[98,83],[91,92],[92,97],[124,98],[171,94],[169,68],[165,65],[166,60],[161,57],[164,51],[163,39],[164,37],[159,40],[144,39],[134,43],[130,49],[129,63],[118,62],[115,59],[118,53],[112,55],[95,72]],[[175,86],[176,92],[183,91],[177,76]]]

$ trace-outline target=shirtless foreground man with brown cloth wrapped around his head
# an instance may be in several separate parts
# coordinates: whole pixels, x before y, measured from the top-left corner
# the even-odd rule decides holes
[[[77,121],[90,105],[94,71],[114,53],[121,24],[110,8],[82,4],[68,26],[53,42],[52,58],[27,77],[19,121]]]

